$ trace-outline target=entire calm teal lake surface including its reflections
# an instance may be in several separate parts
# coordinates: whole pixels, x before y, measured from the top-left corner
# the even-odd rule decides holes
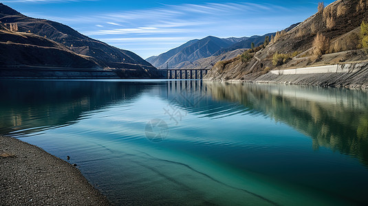
[[[133,205],[368,203],[368,93],[201,81],[0,82],[0,133]]]

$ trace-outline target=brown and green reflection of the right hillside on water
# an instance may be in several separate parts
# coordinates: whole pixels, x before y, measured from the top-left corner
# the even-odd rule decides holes
[[[368,165],[368,93],[279,84],[204,82],[215,100],[237,102],[313,139],[313,148],[353,155]]]

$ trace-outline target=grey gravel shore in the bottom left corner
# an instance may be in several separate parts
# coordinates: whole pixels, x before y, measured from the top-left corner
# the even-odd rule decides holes
[[[109,205],[72,165],[0,136],[0,205]]]

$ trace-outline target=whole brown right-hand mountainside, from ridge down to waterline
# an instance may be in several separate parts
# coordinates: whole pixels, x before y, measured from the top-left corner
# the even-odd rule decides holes
[[[292,27],[278,32],[270,44],[247,51],[231,60],[217,62],[207,80],[280,81],[295,84],[347,87],[367,84],[365,71],[330,75],[277,76],[272,69],[341,65],[345,68],[367,67],[367,50],[360,44],[360,25],[368,20],[367,0],[338,0]],[[358,64],[358,65],[356,65]],[[360,65],[359,65],[360,64]],[[355,82],[354,82],[355,81]]]

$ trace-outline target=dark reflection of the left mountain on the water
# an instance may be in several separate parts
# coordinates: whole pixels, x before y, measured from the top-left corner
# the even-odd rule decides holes
[[[153,84],[102,81],[0,81],[0,134],[21,135],[74,124],[120,101],[131,101]]]

